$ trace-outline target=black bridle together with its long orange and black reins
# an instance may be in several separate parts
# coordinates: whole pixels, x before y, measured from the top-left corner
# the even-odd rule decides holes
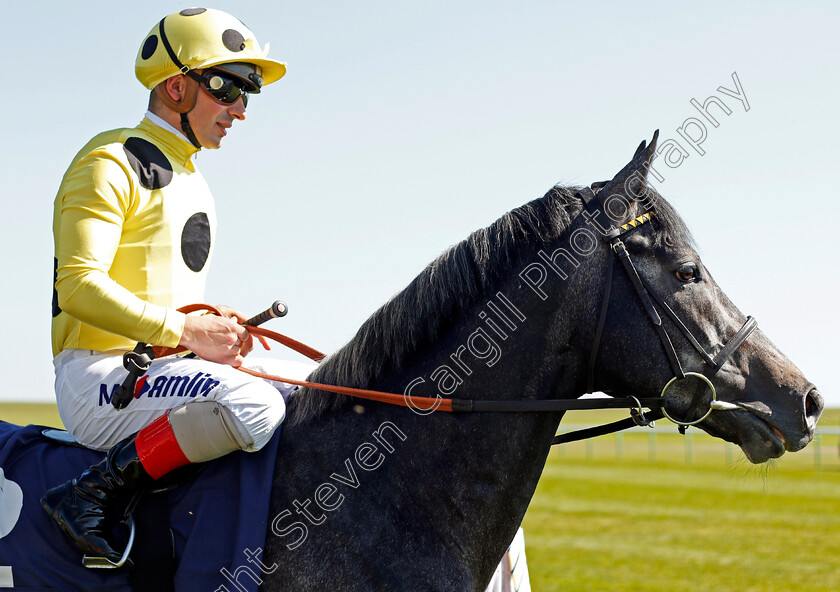
[[[582,189],[578,192],[578,197],[584,204],[584,208],[589,211],[592,216],[601,214],[598,209],[600,200],[596,197],[594,191],[590,188]],[[615,267],[615,259],[617,258],[626,272],[630,282],[635,289],[639,300],[645,312],[653,324],[654,329],[662,344],[668,362],[674,371],[674,377],[669,380],[662,388],[662,392],[658,397],[637,398],[629,397],[600,397],[600,398],[584,398],[584,399],[542,399],[542,400],[481,400],[481,399],[445,399],[440,396],[437,397],[420,397],[409,396],[408,389],[406,393],[396,394],[381,391],[373,391],[366,389],[357,389],[351,387],[343,387],[329,384],[321,384],[309,382],[305,380],[294,380],[290,378],[283,378],[280,376],[273,376],[240,367],[239,370],[258,376],[267,380],[274,380],[278,382],[285,382],[297,386],[307,387],[311,389],[332,392],[336,394],[347,395],[350,397],[378,401],[390,405],[399,405],[402,407],[410,407],[422,414],[429,414],[434,411],[442,411],[449,413],[555,413],[560,411],[583,410],[583,409],[630,409],[630,417],[624,420],[613,423],[597,426],[594,428],[578,430],[575,432],[560,434],[554,437],[552,444],[562,444],[566,442],[573,442],[585,438],[600,436],[623,430],[634,426],[651,426],[653,421],[662,417],[668,418],[673,423],[680,427],[680,431],[684,432],[688,426],[696,425],[706,419],[712,411],[732,411],[741,409],[739,406],[717,400],[717,393],[715,391],[712,378],[720,371],[721,367],[726,361],[732,357],[735,351],[747,340],[747,338],[756,329],[757,323],[752,317],[747,317],[744,325],[727,341],[715,356],[710,355],[694,335],[691,333],[685,323],[680,320],[679,316],[671,309],[670,306],[660,298],[654,290],[651,289],[647,281],[645,281],[636,270],[633,261],[630,258],[630,253],[627,251],[621,238],[627,233],[632,232],[636,228],[650,222],[656,213],[654,210],[631,220],[627,224],[623,224],[616,228],[612,224],[606,229],[601,227],[603,231],[602,240],[608,245],[609,262],[607,263],[607,276],[604,285],[604,295],[601,302],[601,311],[598,319],[598,325],[595,332],[595,338],[590,352],[589,364],[587,368],[587,392],[592,392],[595,389],[595,366],[598,359],[598,352],[601,346],[601,338],[603,335],[604,326],[606,324],[607,312],[610,305],[610,296],[612,293],[613,283],[613,268]],[[677,355],[671,338],[662,323],[662,316],[657,311],[657,307],[664,311],[665,315],[673,321],[680,332],[686,337],[688,342],[700,354],[706,368],[702,373],[686,372],[682,368],[679,356]],[[194,312],[198,310],[205,310],[220,314],[212,306],[205,304],[189,305],[179,309],[181,312]],[[268,311],[266,311],[267,313]],[[263,327],[256,325],[264,320],[271,318],[271,316],[261,313],[249,319],[243,325],[248,327],[248,331],[253,335],[263,336],[273,339],[298,353],[301,353],[312,360],[320,362],[326,356],[321,352],[311,348],[303,343],[300,343],[290,337],[269,331]],[[129,370],[129,376],[125,383],[121,385],[118,393],[112,398],[112,403],[117,409],[126,407],[133,398],[137,395],[135,393],[135,383],[139,376],[142,376],[149,368],[152,359],[162,357],[184,351],[184,348],[162,348],[152,347],[148,344],[139,343],[133,352],[127,352],[124,356],[124,365]],[[700,380],[697,391],[692,397],[692,402],[689,406],[687,418],[696,416],[694,419],[677,419],[670,415],[665,408],[667,399],[665,394],[678,381],[686,378],[696,378]],[[711,398],[707,404],[703,403],[703,391],[709,389]],[[645,412],[648,408],[650,411]]]

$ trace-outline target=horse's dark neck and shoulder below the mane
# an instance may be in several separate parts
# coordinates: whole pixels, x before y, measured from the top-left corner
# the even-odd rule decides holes
[[[576,396],[582,354],[572,335],[580,304],[579,299],[558,304],[570,290],[556,287],[552,304],[511,281],[462,313],[398,372],[383,373],[366,386],[405,392],[421,379],[410,394],[497,400]],[[443,581],[489,578],[525,514],[560,416],[421,415],[360,401],[355,409],[290,426],[273,500],[274,515],[283,518],[277,525],[289,534],[271,539],[271,559],[312,574],[329,557],[331,574],[346,575],[347,589],[355,589],[349,583],[354,577],[369,579],[370,573],[381,578],[383,589],[411,589],[406,582],[428,580],[432,568],[444,574]],[[325,513],[323,524],[309,527],[306,544],[319,546],[318,552],[289,555],[283,545],[295,539],[290,523],[297,518],[293,508],[301,505],[295,496],[327,492],[324,482],[337,488],[326,505],[337,504],[339,495],[347,501],[328,518]],[[289,511],[281,513],[284,509]],[[353,553],[333,552],[334,540],[350,541]],[[399,552],[389,555],[389,569],[383,570],[374,550],[389,548]]]

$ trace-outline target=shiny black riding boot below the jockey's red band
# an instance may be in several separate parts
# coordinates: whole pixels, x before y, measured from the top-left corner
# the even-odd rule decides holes
[[[112,528],[128,497],[153,481],[140,462],[134,439],[119,442],[102,461],[41,498],[41,505],[79,549],[115,563],[122,553],[110,542]]]

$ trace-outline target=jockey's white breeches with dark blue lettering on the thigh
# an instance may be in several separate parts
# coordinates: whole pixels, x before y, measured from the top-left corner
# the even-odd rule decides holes
[[[55,392],[67,431],[89,448],[106,450],[164,412],[196,401],[217,401],[238,420],[245,450],[262,448],[286,416],[287,383],[269,382],[230,366],[199,359],[154,360],[137,382],[134,400],[122,410],[111,404],[128,372],[121,352],[65,350],[56,356]],[[261,358],[245,366],[268,374],[305,379],[314,364]],[[279,392],[278,392],[279,391]]]

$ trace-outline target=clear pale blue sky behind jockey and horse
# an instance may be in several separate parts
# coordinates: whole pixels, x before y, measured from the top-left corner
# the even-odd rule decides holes
[[[291,312],[270,326],[332,351],[440,252],[554,183],[609,178],[657,128],[688,147],[691,99],[715,94],[731,115],[713,111],[705,155],[657,167],[659,189],[724,290],[840,405],[840,5],[630,4],[209,5],[271,42],[288,75],[199,157],[221,221],[208,300],[281,298]],[[140,120],[137,49],[185,7],[5,8],[0,399],[52,399],[55,190],[91,136]],[[717,91],[733,72],[749,111]]]

